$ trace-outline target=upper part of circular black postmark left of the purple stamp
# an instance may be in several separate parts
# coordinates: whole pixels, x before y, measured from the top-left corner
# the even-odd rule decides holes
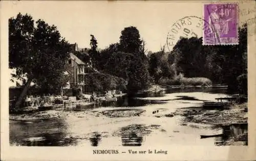
[[[169,51],[171,51],[182,37],[203,37],[204,35],[214,34],[212,31],[214,30],[212,30],[211,25],[203,18],[197,16],[183,17],[170,27],[166,44]]]

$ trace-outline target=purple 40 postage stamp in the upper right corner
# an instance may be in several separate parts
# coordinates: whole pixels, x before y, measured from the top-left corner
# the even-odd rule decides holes
[[[205,4],[204,23],[211,26],[204,30],[205,45],[238,44],[238,4]]]

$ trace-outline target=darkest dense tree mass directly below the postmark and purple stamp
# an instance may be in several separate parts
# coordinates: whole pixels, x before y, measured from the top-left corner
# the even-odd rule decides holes
[[[247,25],[239,28],[239,45],[207,46],[202,45],[202,38],[182,38],[169,53],[168,62],[175,66],[177,74],[206,77],[214,83],[227,84],[230,92],[239,92],[242,78],[238,77],[247,76]],[[247,85],[239,87],[245,89]]]

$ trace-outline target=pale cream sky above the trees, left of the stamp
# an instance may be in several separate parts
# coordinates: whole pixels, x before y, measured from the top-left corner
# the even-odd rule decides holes
[[[62,37],[79,48],[90,47],[93,34],[103,49],[119,41],[121,31],[136,26],[148,51],[158,51],[166,43],[170,26],[185,16],[202,16],[202,4],[147,1],[13,1],[6,17],[18,12],[34,20],[56,25]]]

